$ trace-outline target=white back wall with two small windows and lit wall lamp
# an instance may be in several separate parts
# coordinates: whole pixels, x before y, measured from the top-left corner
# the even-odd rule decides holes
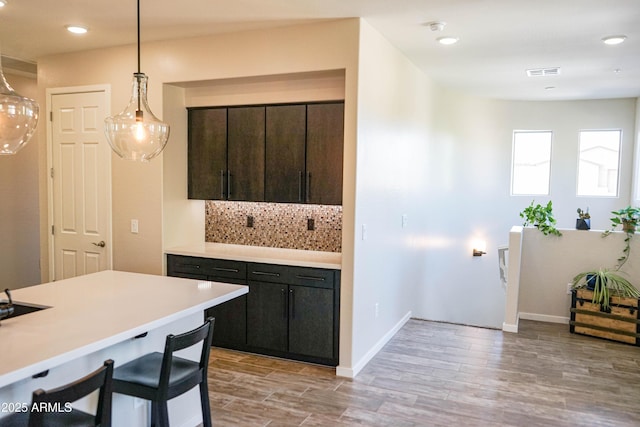
[[[553,201],[558,226],[574,228],[576,209],[588,206],[592,227],[605,229],[609,212],[629,203],[635,100],[500,101],[442,90],[436,101],[435,135],[424,162],[424,275],[416,278],[414,315],[501,328],[505,295],[497,247],[507,244],[511,227],[522,224],[518,213],[534,199],[510,196],[513,130],[554,132],[551,194],[535,199]],[[577,197],[578,131],[599,128],[623,129],[620,196]],[[486,241],[487,255],[471,256],[474,239]]]

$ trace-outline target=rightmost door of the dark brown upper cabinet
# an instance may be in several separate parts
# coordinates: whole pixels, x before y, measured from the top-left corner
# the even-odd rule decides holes
[[[307,106],[306,202],[342,204],[344,103]]]

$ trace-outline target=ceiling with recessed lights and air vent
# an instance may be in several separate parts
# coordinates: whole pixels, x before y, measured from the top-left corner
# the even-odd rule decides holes
[[[6,0],[3,55],[42,56],[135,43],[135,0]],[[640,96],[640,0],[142,0],[142,41],[363,17],[431,78],[483,97]],[[446,22],[432,31],[432,21]],[[65,30],[78,24],[89,33]],[[627,36],[607,46],[602,38]],[[452,46],[443,35],[459,37]],[[560,67],[527,77],[525,70]],[[553,88],[553,89],[547,89]]]

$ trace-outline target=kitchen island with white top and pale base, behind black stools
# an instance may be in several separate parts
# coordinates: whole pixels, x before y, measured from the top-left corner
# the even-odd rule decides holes
[[[111,270],[17,289],[15,304],[49,308],[0,321],[0,404],[28,404],[33,390],[73,381],[105,359],[117,368],[161,352],[167,334],[193,329],[202,324],[205,309],[247,291],[241,285]],[[197,355],[195,348],[184,353]],[[92,398],[78,407],[93,410]],[[113,405],[113,425],[146,424],[145,401],[114,395]],[[171,401],[169,412],[173,425],[197,425],[197,389]]]

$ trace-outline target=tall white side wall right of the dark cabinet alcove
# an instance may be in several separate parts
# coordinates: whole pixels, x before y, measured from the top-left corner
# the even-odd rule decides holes
[[[355,254],[356,372],[408,318],[423,274],[421,249],[413,243],[425,227],[428,203],[423,164],[430,139],[430,92],[430,80],[361,21],[355,230],[345,233],[345,239],[353,239]]]

